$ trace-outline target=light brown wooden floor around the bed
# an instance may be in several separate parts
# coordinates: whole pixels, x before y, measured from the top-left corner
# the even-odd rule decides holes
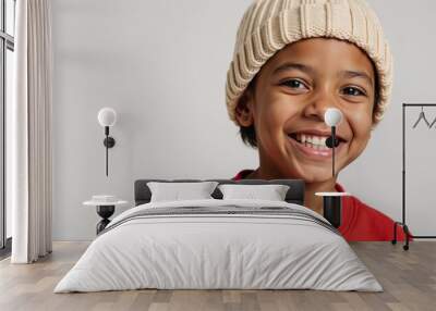
[[[0,262],[0,310],[436,310],[436,241],[414,241],[409,251],[389,242],[352,244],[385,291],[130,290],[52,294],[88,246],[55,242],[35,264]]]

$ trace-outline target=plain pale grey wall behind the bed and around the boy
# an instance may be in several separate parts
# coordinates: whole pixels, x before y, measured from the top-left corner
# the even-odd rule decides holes
[[[396,0],[395,7],[393,1],[370,2],[395,53],[393,97],[366,151],[339,181],[362,200],[399,219],[401,102],[436,102],[432,40],[436,2],[420,0],[421,7],[405,0]],[[92,239],[98,216],[82,201],[95,194],[113,194],[133,202],[136,178],[228,178],[240,169],[257,166],[256,151],[241,142],[225,104],[235,33],[250,3],[52,1],[55,239]],[[104,130],[97,124],[102,107],[119,113],[111,132],[117,145],[110,150],[109,178],[104,171]],[[436,117],[436,109],[432,116]],[[435,154],[432,137],[415,133],[419,147]],[[422,152],[410,154],[408,161],[423,163]],[[431,159],[427,163],[429,174],[419,174],[414,182],[420,185],[415,188],[421,187],[417,196],[409,194],[415,203],[410,203],[409,212],[415,234],[436,232],[431,188],[436,185],[431,175],[435,165]]]

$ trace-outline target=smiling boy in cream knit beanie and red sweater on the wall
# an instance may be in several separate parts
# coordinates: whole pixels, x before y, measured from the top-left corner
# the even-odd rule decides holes
[[[392,83],[391,54],[364,0],[257,0],[245,12],[227,76],[230,119],[258,149],[259,166],[241,178],[301,178],[305,206],[322,214],[316,191],[343,191],[331,176],[328,108],[337,128],[337,172],[365,149]],[[342,199],[348,240],[390,240],[393,222],[354,197]],[[403,234],[398,229],[399,239]]]

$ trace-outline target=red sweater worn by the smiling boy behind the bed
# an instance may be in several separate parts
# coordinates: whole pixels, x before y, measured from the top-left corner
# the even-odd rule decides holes
[[[243,179],[251,172],[253,171],[243,170],[232,179]],[[336,184],[336,190],[344,191],[339,184]],[[393,221],[354,197],[342,197],[342,223],[339,231],[349,241],[391,240],[393,238]],[[404,240],[401,226],[397,226],[397,239]]]

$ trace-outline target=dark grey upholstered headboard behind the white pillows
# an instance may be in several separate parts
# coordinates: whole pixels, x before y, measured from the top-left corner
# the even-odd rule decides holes
[[[280,184],[288,185],[290,188],[286,196],[286,201],[289,203],[295,203],[304,206],[304,181],[302,179],[138,179],[135,182],[135,206],[145,204],[150,201],[152,192],[147,186],[148,182],[161,182],[161,183],[189,183],[189,182],[218,182],[221,184],[242,184],[242,185],[268,185],[268,184]],[[215,199],[222,199],[222,194],[218,189],[211,194]]]

